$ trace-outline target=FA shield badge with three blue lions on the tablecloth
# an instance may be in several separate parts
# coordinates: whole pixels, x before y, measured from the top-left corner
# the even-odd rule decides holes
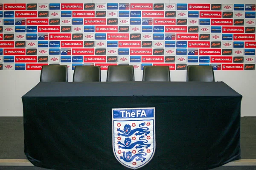
[[[155,108],[112,109],[113,152],[125,167],[147,164],[155,152]]]

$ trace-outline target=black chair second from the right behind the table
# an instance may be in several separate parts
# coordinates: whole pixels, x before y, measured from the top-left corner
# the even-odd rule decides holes
[[[170,70],[168,66],[144,66],[143,78],[145,82],[169,82]]]

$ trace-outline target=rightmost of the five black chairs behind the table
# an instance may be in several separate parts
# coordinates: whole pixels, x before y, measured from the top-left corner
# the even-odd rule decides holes
[[[211,65],[188,65],[187,82],[214,82],[214,72]]]

